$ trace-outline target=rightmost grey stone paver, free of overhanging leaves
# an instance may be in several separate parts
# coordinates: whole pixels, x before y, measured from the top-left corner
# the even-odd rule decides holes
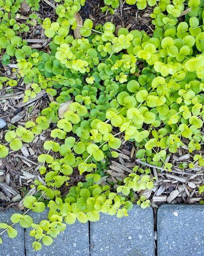
[[[158,256],[204,253],[204,205],[162,205],[158,209]]]

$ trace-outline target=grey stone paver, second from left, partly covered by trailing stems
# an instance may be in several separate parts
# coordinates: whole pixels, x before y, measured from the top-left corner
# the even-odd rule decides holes
[[[29,214],[34,223],[47,219],[47,211],[43,213]],[[33,252],[32,242],[34,237],[29,235],[30,229],[26,230],[26,256],[89,256],[89,226],[76,221],[73,225],[67,225],[64,232],[53,238],[53,244],[42,246],[42,249]]]

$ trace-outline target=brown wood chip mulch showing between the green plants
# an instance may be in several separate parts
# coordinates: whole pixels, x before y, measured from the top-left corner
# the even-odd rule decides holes
[[[40,2],[39,16],[50,17],[55,20],[53,1],[42,0]],[[152,9],[140,11],[135,6],[127,6],[125,3],[121,5],[121,8],[115,10],[114,15],[107,13],[101,13],[100,8],[104,6],[103,0],[86,1],[86,5],[80,11],[80,16],[84,19],[90,18],[93,20],[95,26],[99,23],[111,21],[120,27],[127,27],[128,29],[144,29],[149,35],[153,31],[153,25],[149,14]],[[26,19],[30,10],[22,10],[20,19]],[[31,29],[29,34],[22,35],[27,40],[28,45],[32,48],[39,48],[43,51],[48,51],[48,44],[50,39],[46,38],[41,26],[36,25]],[[14,61],[11,62],[9,67],[3,65],[0,66],[0,75],[15,78],[15,74],[12,72],[12,67],[16,67]],[[23,103],[24,91],[29,89],[31,84],[25,85],[21,80],[18,86],[13,88],[6,87],[0,90],[0,118],[3,118],[7,126],[0,129],[0,143],[6,144],[4,141],[4,134],[8,131],[9,127],[18,125],[24,125],[28,120],[35,120],[39,116],[40,111],[46,108],[50,101],[53,101],[52,97],[47,96],[43,91],[39,93],[35,99],[31,99],[26,103]],[[32,143],[24,144],[22,149],[18,152],[11,151],[9,157],[0,160],[0,207],[10,207],[22,209],[22,199],[25,193],[33,195],[36,189],[30,189],[34,179],[43,181],[43,176],[38,173],[39,163],[37,162],[37,156],[42,154],[43,142],[49,140],[49,130],[43,131],[40,135],[37,135]],[[147,166],[145,163],[141,163],[140,160],[136,160],[137,148],[133,142],[124,141],[122,139],[122,147],[117,159],[111,160],[110,166],[105,170],[106,175],[102,178],[102,182],[113,182],[117,184],[117,180],[122,181],[124,177],[131,172],[132,168],[136,165]],[[8,144],[8,143],[7,143]],[[199,151],[200,154],[204,154],[204,150]],[[193,153],[195,154],[195,153]],[[151,199],[151,205],[155,208],[161,203],[199,203],[203,200],[198,193],[198,188],[204,182],[204,168],[195,165],[193,170],[180,169],[180,163],[192,162],[193,154],[189,154],[187,146],[184,146],[178,150],[176,154],[173,154],[170,158],[167,157],[167,162],[173,164],[172,171],[168,172],[162,168],[150,167],[151,175],[155,176],[155,188],[151,191],[142,190],[139,195],[145,195],[146,198]],[[76,184],[83,177],[79,176],[77,170],[71,175],[69,181],[70,186]],[[63,188],[63,192],[66,193],[68,188]]]

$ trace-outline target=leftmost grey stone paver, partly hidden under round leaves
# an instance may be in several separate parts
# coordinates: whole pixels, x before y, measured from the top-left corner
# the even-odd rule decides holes
[[[20,213],[21,211],[16,211],[12,208],[9,208],[4,214],[3,209],[0,209],[0,222],[11,225],[10,220],[11,215],[14,213]],[[8,237],[7,232],[4,232],[1,235],[3,243],[0,244],[0,256],[25,256],[25,246],[24,246],[24,228],[19,224],[13,226],[18,231],[17,237],[11,239]],[[0,232],[3,231],[0,229]]]

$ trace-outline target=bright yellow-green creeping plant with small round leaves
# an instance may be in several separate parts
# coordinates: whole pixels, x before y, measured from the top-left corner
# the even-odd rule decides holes
[[[49,133],[43,154],[37,156],[41,179],[31,185],[37,195],[25,195],[28,210],[13,214],[12,225],[0,223],[0,235],[7,232],[10,238],[17,236],[16,224],[32,227],[34,250],[52,244],[76,220],[98,221],[100,212],[122,218],[133,202],[149,207],[150,200],[139,196],[154,187],[149,167],[171,172],[168,156],[181,147],[195,152],[181,169],[204,166],[199,153],[204,141],[203,1],[127,0],[139,10],[152,7],[151,36],[144,30],[118,29],[112,22],[79,23],[77,13],[85,0],[55,0],[56,19],[41,20],[39,2],[0,0],[1,61],[17,64],[15,78],[0,77],[1,89],[9,92],[23,80],[25,103],[42,92],[52,99],[37,118],[10,127],[0,144],[0,158],[5,158],[9,150],[18,151],[42,132]],[[21,23],[23,3],[32,13]],[[104,5],[102,12],[114,14],[120,2],[105,0]],[[31,48],[22,38],[35,22],[49,38],[47,51]],[[117,184],[104,184],[102,170],[120,156],[121,135],[136,144],[142,164]],[[74,171],[81,181],[70,186]],[[46,206],[49,221],[33,223],[29,211],[42,212]]]

